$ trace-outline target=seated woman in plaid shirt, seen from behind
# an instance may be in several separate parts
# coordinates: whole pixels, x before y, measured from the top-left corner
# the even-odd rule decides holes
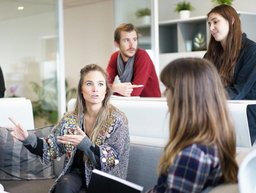
[[[148,192],[201,192],[237,182],[236,136],[216,68],[199,58],[177,59],[161,72],[170,112],[169,141]]]

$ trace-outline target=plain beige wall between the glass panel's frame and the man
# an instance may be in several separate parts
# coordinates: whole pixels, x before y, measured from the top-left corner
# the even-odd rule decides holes
[[[77,88],[81,68],[97,63],[106,69],[113,53],[112,0],[64,9],[65,73]]]

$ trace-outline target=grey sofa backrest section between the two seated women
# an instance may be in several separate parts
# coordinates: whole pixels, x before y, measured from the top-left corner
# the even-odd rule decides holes
[[[143,192],[157,183],[156,169],[167,139],[130,136],[127,181],[143,186]]]

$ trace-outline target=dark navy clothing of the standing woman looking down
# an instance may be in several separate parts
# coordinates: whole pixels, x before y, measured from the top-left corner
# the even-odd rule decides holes
[[[242,46],[234,69],[233,86],[225,89],[230,100],[256,100],[256,43],[243,33]],[[256,105],[247,106],[247,119],[253,144],[256,139]]]

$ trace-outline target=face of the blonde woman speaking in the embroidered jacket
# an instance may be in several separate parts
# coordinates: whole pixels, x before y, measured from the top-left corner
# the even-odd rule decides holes
[[[102,104],[107,93],[106,81],[99,71],[91,71],[85,75],[82,94],[86,104]]]

